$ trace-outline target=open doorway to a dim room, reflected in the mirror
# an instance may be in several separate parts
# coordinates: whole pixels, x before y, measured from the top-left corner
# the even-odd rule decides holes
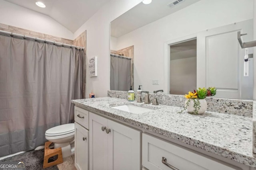
[[[196,39],[170,45],[170,94],[196,90]]]

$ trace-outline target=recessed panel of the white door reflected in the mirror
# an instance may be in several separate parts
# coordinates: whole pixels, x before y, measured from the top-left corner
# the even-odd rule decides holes
[[[237,31],[206,37],[206,86],[238,90]],[[218,50],[216,50],[218,49]]]

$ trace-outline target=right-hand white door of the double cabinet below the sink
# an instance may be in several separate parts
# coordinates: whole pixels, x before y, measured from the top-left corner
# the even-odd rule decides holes
[[[108,120],[109,170],[141,170],[141,131]],[[112,160],[113,159],[113,160]]]

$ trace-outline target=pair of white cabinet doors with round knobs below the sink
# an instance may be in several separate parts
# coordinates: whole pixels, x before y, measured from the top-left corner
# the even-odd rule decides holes
[[[89,127],[90,170],[141,169],[141,131],[91,112]]]

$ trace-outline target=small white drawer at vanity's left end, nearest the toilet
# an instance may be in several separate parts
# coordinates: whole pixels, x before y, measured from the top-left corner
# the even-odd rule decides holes
[[[75,121],[89,129],[89,111],[75,106]]]

